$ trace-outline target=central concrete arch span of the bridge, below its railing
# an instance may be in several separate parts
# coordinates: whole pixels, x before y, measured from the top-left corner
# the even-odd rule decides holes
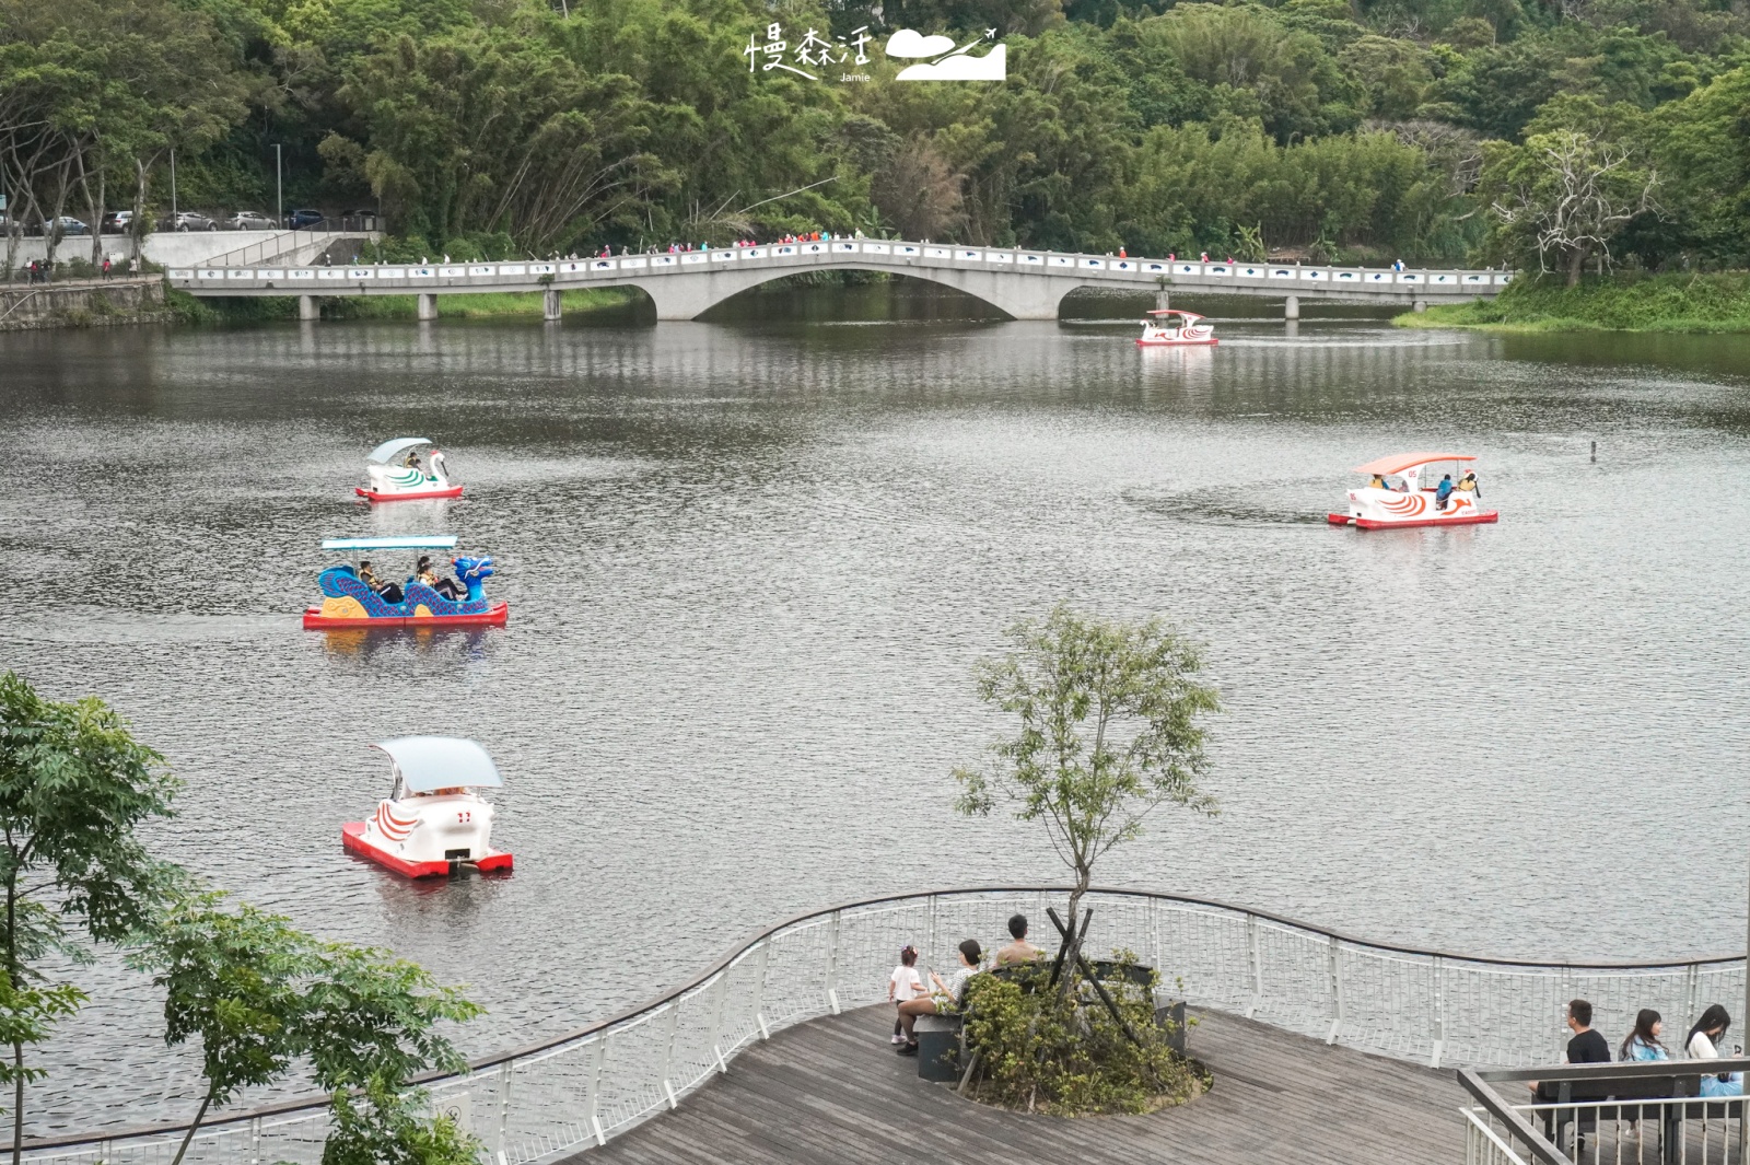
[[[845,257],[826,262],[812,262],[807,271],[882,271],[886,275],[905,275],[915,280],[952,287],[973,299],[990,304],[998,311],[1017,320],[1055,320],[1064,296],[1078,287],[1090,287],[1088,280],[1074,275],[1040,275],[1027,273],[1017,276],[1013,271],[978,271],[962,268],[928,268],[908,262],[880,262],[878,259]],[[796,275],[794,268],[714,268],[707,271],[688,271],[684,275],[630,275],[626,278],[602,282],[597,287],[637,287],[656,304],[658,320],[691,320],[724,299],[740,296],[763,283]]]

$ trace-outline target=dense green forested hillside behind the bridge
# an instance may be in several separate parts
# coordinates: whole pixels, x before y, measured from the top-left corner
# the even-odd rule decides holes
[[[774,23],[835,63],[756,66]],[[901,26],[994,28],[1008,80],[894,82]],[[1743,0],[0,0],[0,163],[14,224],[152,219],[172,150],[180,206],[273,212],[280,143],[287,208],[457,255],[819,227],[1720,268],[1746,30]]]

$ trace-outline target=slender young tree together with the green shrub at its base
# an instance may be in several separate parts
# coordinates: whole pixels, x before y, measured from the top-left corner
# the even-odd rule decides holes
[[[978,665],[978,696],[1015,714],[1018,731],[990,745],[985,768],[956,770],[956,808],[985,815],[1003,801],[1020,820],[1043,822],[1074,887],[1055,987],[1045,966],[968,985],[966,1083],[1027,1111],[1141,1113],[1185,1100],[1208,1074],[1167,1048],[1155,1025],[1157,980],[1136,983],[1132,955],[1120,955],[1111,983],[1088,985],[1101,1006],[1080,1006],[1078,917],[1094,862],[1141,836],[1150,812],[1169,803],[1216,812],[1197,778],[1209,768],[1200,721],[1220,698],[1199,679],[1199,645],[1160,619],[1113,623],[1059,605],[1012,626],[1008,640],[1004,656]]]

